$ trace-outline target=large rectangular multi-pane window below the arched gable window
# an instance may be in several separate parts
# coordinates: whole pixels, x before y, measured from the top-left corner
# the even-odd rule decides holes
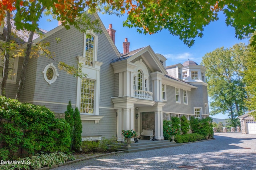
[[[80,113],[94,114],[94,89],[94,80],[82,79]]]

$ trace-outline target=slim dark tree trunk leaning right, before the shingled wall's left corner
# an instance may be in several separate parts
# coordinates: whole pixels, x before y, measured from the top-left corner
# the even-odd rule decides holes
[[[32,48],[33,36],[34,36],[34,31],[30,31],[29,37],[28,37],[28,45],[27,45],[25,56],[24,56],[24,61],[22,64],[22,71],[21,71],[21,77],[20,77],[20,81],[19,81],[19,87],[18,87],[18,91],[17,91],[16,97],[15,97],[15,99],[17,99],[17,100],[20,100],[22,91],[24,89],[26,70],[27,70],[27,66],[28,66],[28,59],[29,59],[30,51]]]

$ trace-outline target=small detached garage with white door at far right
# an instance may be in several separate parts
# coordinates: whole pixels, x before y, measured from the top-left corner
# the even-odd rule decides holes
[[[241,123],[242,133],[256,134],[256,120],[248,113],[238,117]]]

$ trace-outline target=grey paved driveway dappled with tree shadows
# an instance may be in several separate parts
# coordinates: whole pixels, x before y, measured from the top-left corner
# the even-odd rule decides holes
[[[214,137],[171,148],[103,156],[54,170],[256,169],[256,134],[216,133]]]

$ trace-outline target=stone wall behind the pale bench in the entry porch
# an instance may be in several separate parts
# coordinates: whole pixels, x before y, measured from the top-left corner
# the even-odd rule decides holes
[[[141,113],[141,130],[152,130],[155,136],[155,113],[154,112],[143,112]],[[144,139],[149,136],[144,136]]]

